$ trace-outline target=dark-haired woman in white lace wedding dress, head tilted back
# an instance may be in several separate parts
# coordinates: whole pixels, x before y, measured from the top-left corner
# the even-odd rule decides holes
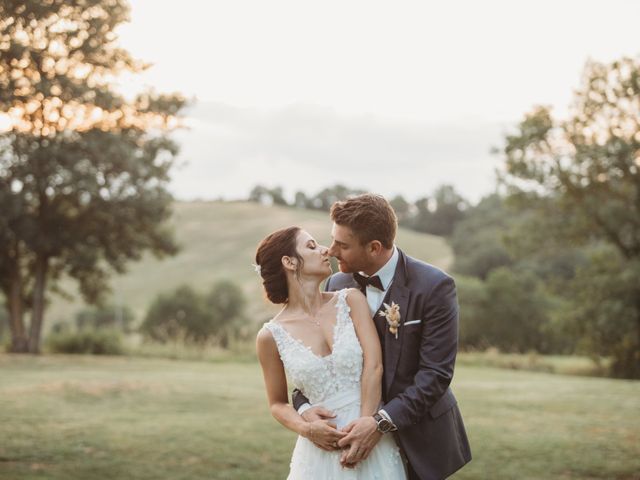
[[[350,446],[338,446],[350,422],[373,415],[381,399],[382,353],[365,296],[320,290],[331,274],[328,249],[298,227],[262,240],[256,269],[269,300],[284,304],[258,333],[256,349],[271,413],[299,435],[288,478],[406,478],[390,435],[355,465],[347,463]],[[306,422],[288,402],[287,377],[333,421]]]

